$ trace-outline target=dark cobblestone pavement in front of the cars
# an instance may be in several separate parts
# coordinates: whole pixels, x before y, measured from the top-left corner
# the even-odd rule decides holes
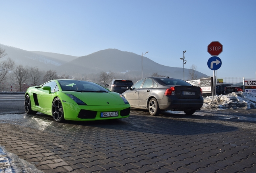
[[[0,145],[45,173],[256,172],[256,110],[56,123],[0,115]]]

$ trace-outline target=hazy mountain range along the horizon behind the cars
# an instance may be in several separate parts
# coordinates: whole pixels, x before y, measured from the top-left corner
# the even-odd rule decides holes
[[[37,66],[43,71],[56,70],[59,75],[81,78],[88,74],[114,72],[119,78],[133,79],[142,76],[141,55],[118,49],[109,48],[77,57],[52,52],[27,51],[3,44],[0,44],[0,47],[16,65]],[[189,71],[190,69],[184,69],[185,76],[189,76]],[[143,77],[152,76],[153,73],[183,79],[183,68],[161,65],[143,56]],[[198,71],[196,73],[198,78],[207,76]],[[185,80],[190,78],[187,77]]]

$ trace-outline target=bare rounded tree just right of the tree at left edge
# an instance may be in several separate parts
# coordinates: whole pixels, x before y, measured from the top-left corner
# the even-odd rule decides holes
[[[22,91],[24,84],[29,80],[29,70],[23,65],[19,65],[13,72],[13,81],[19,87],[19,91]]]

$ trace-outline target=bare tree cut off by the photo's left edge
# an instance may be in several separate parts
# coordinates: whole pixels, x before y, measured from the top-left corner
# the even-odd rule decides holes
[[[6,56],[6,52],[3,48],[0,48],[0,60]],[[6,74],[14,68],[14,61],[11,58],[0,61],[0,83],[6,77]]]

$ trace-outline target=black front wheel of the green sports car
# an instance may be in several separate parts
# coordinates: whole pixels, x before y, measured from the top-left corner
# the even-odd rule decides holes
[[[62,103],[58,97],[52,103],[52,117],[57,122],[63,122],[65,120]]]

